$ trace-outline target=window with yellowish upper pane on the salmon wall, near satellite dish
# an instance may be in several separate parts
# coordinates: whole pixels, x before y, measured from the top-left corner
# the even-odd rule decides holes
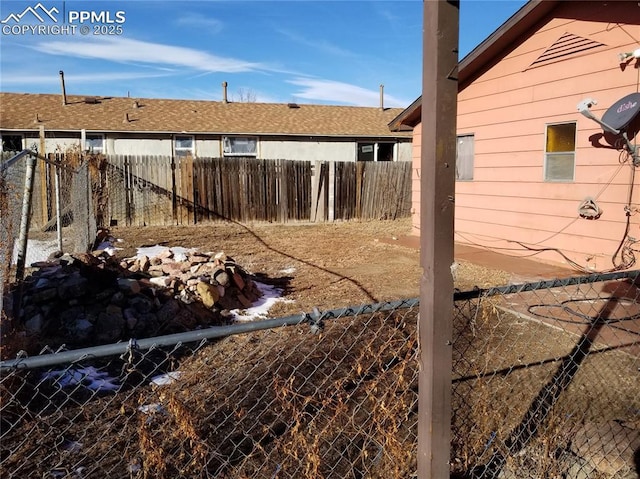
[[[576,124],[547,125],[544,180],[573,181],[576,156]]]

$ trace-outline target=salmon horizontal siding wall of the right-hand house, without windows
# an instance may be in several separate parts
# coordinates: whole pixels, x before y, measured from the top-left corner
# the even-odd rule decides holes
[[[457,130],[474,135],[475,157],[473,181],[456,182],[456,241],[594,270],[612,267],[611,256],[625,233],[631,167],[620,165],[615,149],[592,145],[602,130],[578,113],[577,104],[596,99],[592,111],[601,117],[613,102],[638,91],[638,69],[633,64],[621,69],[617,55],[638,48],[640,9],[619,8],[616,2],[602,8],[600,2],[561,4],[556,18],[460,91]],[[531,67],[566,33],[603,46]],[[575,179],[545,182],[546,125],[568,121],[577,122]],[[640,201],[637,183],[633,205]],[[578,216],[587,197],[604,210],[600,219]],[[419,212],[416,198],[414,193]],[[630,219],[629,234],[640,238],[638,215]]]

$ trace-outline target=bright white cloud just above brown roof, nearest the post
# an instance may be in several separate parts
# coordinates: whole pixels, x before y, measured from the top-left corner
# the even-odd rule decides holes
[[[302,91],[293,93],[297,98],[362,106],[380,104],[379,90],[367,90],[349,83],[313,78],[295,78],[288,80],[287,83],[302,87]],[[385,94],[384,104],[388,107],[405,107],[408,103]]]

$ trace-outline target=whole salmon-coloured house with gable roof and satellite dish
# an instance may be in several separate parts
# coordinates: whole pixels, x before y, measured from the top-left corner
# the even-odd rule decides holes
[[[581,270],[640,260],[639,58],[637,1],[530,1],[462,59],[455,241]],[[390,127],[413,128],[419,235],[421,99]]]

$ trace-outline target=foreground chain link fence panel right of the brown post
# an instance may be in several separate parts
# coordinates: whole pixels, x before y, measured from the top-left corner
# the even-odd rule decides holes
[[[456,295],[452,470],[637,478],[638,272]]]

